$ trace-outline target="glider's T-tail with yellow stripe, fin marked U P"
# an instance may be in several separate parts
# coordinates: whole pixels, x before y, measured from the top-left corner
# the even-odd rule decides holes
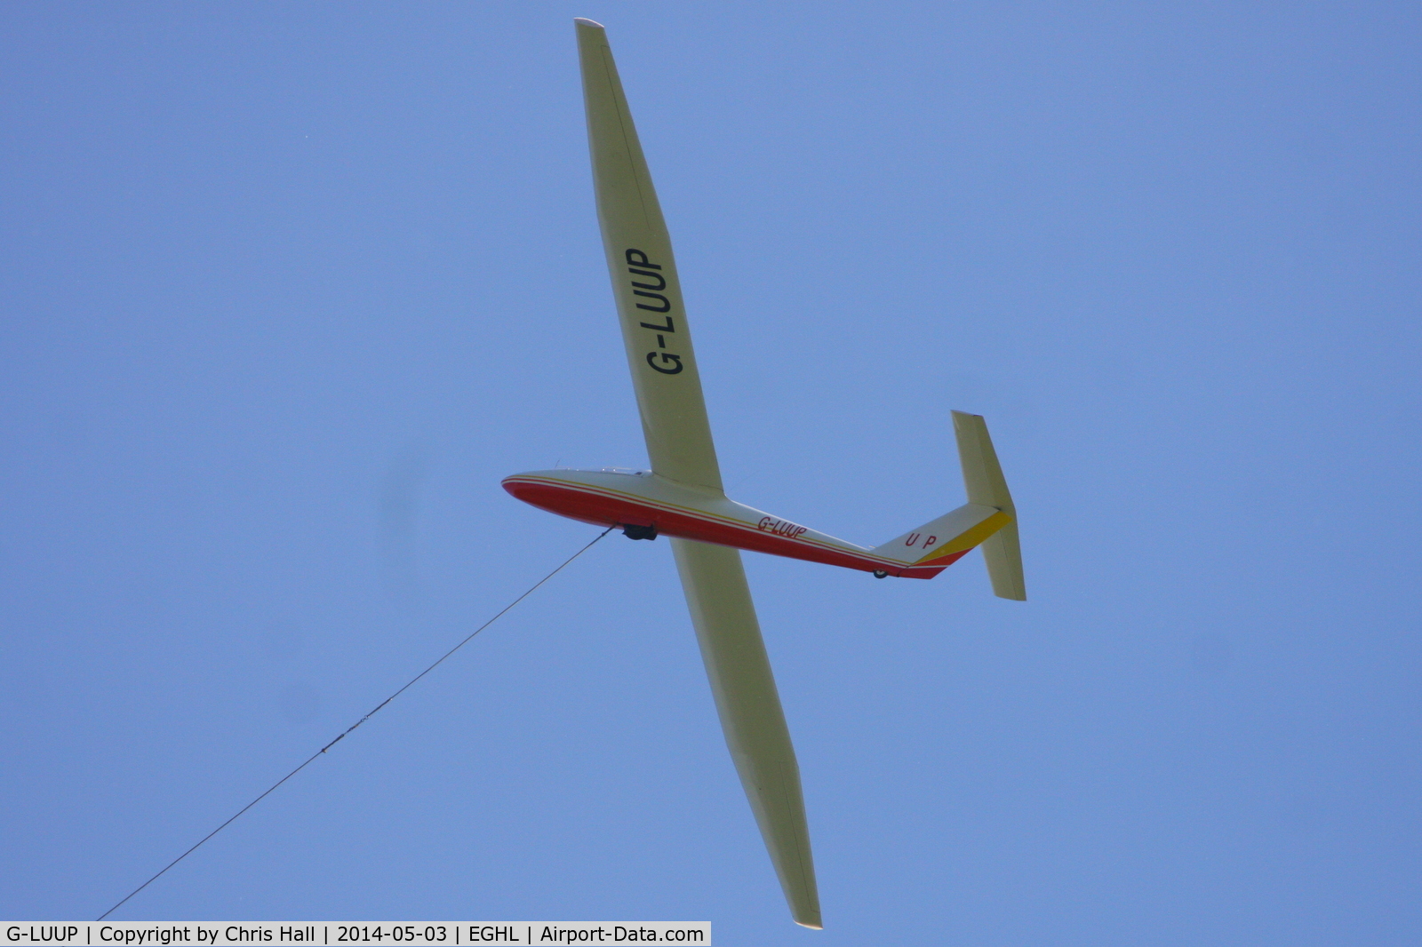
[[[987,424],[981,415],[954,411],[953,432],[958,441],[968,502],[875,547],[873,555],[903,563],[899,569],[884,570],[886,574],[893,572],[904,579],[933,579],[981,546],[993,592],[1003,599],[1027,601],[1017,508],[1007,492]]]

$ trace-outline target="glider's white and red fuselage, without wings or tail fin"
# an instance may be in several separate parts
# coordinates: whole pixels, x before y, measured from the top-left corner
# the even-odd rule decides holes
[[[505,478],[503,489],[525,503],[584,523],[656,526],[658,535],[904,579],[931,579],[968,552],[934,559],[931,566],[896,562],[650,471],[530,471]]]

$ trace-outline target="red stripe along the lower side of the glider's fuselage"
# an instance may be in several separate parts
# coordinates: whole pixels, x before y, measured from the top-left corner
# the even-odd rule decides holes
[[[549,483],[547,481],[522,479],[510,476],[503,481],[503,489],[518,499],[546,509],[550,513],[577,519],[584,523],[611,526],[631,523],[637,526],[656,526],[658,533],[695,539],[702,543],[717,546],[731,546],[734,549],[749,549],[752,552],[769,553],[772,556],[788,556],[791,559],[805,559],[820,562],[828,566],[843,566],[845,569],[859,569],[860,572],[887,572],[906,579],[931,579],[943,572],[951,559],[939,559],[931,566],[904,566],[877,556],[855,555],[849,550],[812,546],[803,540],[786,539],[775,533],[764,532],[748,523],[734,523],[722,519],[711,519],[710,515],[698,516],[685,510],[668,509],[651,501],[638,501],[626,495],[610,495],[597,488],[579,488],[570,483]]]

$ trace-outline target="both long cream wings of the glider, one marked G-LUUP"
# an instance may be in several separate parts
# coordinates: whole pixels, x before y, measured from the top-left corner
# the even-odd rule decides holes
[[[603,27],[577,20],[597,219],[654,474],[721,495],[671,239]],[[741,553],[671,539],[721,728],[795,921],[820,927],[799,765]]]

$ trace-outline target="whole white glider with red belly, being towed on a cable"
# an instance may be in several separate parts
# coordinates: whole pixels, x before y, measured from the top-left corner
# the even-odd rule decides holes
[[[668,536],[725,742],[798,924],[819,929],[799,765],[765,654],[741,549],[931,579],[981,547],[993,592],[1025,600],[1017,510],[987,425],[953,412],[968,502],[882,546],[856,546],[737,503],[721,488],[671,239],[603,27],[576,20],[597,219],[650,471],[533,471],[503,481],[520,501],[631,539]]]

